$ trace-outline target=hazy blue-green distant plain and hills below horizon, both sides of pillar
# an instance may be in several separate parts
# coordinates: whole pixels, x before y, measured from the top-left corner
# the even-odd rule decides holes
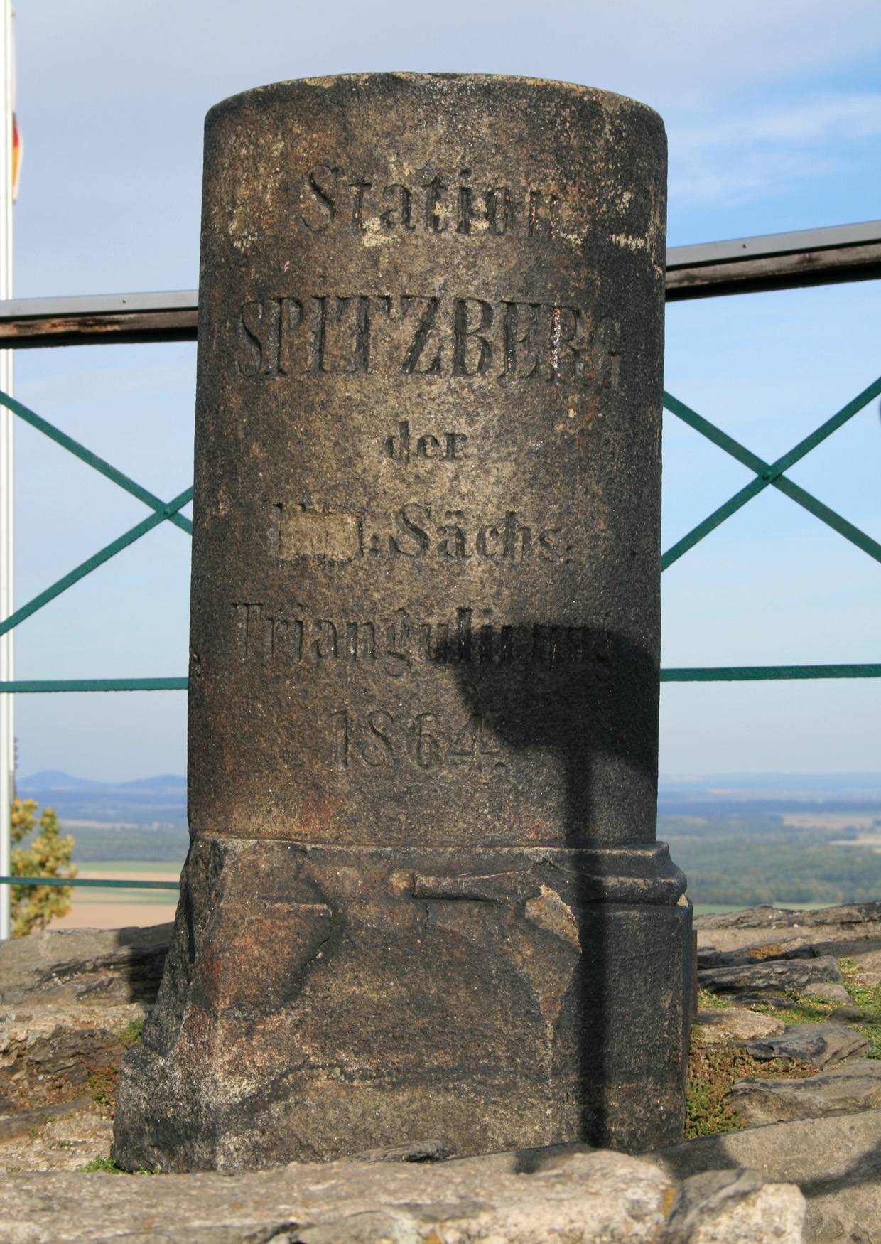
[[[45,770],[17,786],[22,799],[58,812],[83,875],[89,861],[179,866],[186,855],[179,774],[107,782]],[[657,811],[659,837],[688,875],[696,903],[798,906],[881,894],[881,848],[856,841],[881,826],[881,774],[662,775]]]

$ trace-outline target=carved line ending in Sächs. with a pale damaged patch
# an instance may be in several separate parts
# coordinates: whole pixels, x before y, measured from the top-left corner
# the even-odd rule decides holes
[[[547,519],[544,520],[547,522]],[[408,501],[385,522],[354,511],[308,510],[304,505],[273,505],[270,510],[270,554],[278,561],[324,557],[329,561],[440,562],[478,561],[498,566],[574,561],[575,546],[562,524],[527,522],[517,510],[481,521],[466,510]],[[598,535],[598,539],[601,539]]]

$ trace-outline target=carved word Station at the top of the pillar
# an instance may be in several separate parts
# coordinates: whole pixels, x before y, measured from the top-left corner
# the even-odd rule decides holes
[[[369,240],[391,233],[557,238],[564,207],[557,188],[481,183],[470,168],[404,183],[336,164],[309,169],[299,203],[299,224],[309,233],[342,229]]]

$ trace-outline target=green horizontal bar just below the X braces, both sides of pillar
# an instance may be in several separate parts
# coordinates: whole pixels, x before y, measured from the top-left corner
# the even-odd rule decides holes
[[[693,666],[661,671],[662,683],[763,682],[785,678],[881,678],[880,664],[839,666]],[[188,678],[19,679],[0,683],[4,692],[185,692]]]

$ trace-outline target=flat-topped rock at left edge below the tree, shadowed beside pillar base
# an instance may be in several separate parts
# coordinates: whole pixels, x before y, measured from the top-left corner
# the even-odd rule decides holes
[[[153,1003],[170,937],[170,924],[154,924],[40,929],[0,942],[0,1003]]]

